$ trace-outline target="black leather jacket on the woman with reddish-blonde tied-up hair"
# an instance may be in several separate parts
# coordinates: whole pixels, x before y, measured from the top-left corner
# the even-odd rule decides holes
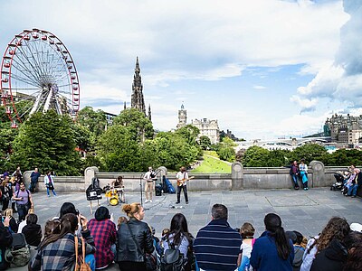
[[[129,227],[127,226],[129,224]],[[129,228],[132,230],[134,238],[138,242],[139,251],[134,239],[132,238]],[[145,252],[153,252],[153,238],[148,224],[135,218],[129,219],[128,223],[122,223],[117,231],[117,261],[144,262]]]

